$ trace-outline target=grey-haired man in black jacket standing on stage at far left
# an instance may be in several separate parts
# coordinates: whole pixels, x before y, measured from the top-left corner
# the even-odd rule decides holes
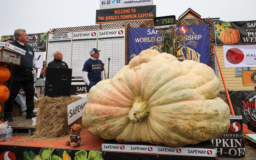
[[[25,55],[21,55],[20,65],[8,65],[7,68],[10,70],[11,78],[8,81],[8,88],[10,96],[5,102],[4,107],[4,122],[12,122],[11,112],[14,105],[14,99],[20,91],[21,86],[26,93],[26,119],[37,117],[34,113],[34,77],[33,77],[33,66],[34,65],[34,51],[33,48],[28,45],[29,36],[25,29],[16,29],[14,31],[14,40],[10,44],[17,46],[20,49],[26,51]],[[38,67],[36,67],[38,69]]]

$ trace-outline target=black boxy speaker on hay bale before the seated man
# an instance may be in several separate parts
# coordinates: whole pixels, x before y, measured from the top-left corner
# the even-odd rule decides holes
[[[45,95],[48,97],[70,97],[72,77],[71,68],[46,67],[45,76]]]

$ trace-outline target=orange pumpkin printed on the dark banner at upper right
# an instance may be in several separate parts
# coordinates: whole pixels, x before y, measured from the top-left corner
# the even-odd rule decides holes
[[[226,28],[220,33],[220,40],[224,44],[234,44],[240,39],[239,31],[235,28]]]

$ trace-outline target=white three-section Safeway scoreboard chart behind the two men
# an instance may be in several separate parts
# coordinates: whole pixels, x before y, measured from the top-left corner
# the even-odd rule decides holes
[[[53,51],[60,50],[63,61],[72,68],[71,85],[79,86],[78,93],[85,85],[82,69],[91,48],[101,50],[99,59],[104,63],[106,78],[112,78],[125,65],[125,28],[49,33],[46,63],[53,60]]]

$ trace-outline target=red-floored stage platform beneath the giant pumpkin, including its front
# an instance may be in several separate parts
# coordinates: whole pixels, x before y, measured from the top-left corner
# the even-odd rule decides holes
[[[197,145],[187,145],[179,148],[170,148],[165,146],[151,144],[123,144],[116,143],[114,140],[105,140],[99,136],[92,135],[87,129],[81,131],[82,144],[76,148],[65,146],[65,141],[69,139],[69,135],[57,138],[37,139],[25,141],[29,134],[33,134],[36,128],[32,126],[31,119],[25,117],[15,118],[12,125],[13,139],[10,142],[0,142],[0,160],[23,160],[33,159],[35,156],[44,156],[44,151],[60,160],[65,157],[70,157],[71,160],[76,159],[76,156],[82,156],[85,160],[91,160],[92,157],[97,157],[94,160],[226,160],[233,158],[217,157],[214,146],[210,141],[205,141]],[[246,144],[246,158],[253,160],[256,155],[256,149]],[[250,149],[250,150],[248,150]],[[15,158],[14,158],[15,157]],[[250,158],[251,157],[251,158]],[[42,158],[43,159],[43,158]],[[244,158],[234,158],[242,160]]]

